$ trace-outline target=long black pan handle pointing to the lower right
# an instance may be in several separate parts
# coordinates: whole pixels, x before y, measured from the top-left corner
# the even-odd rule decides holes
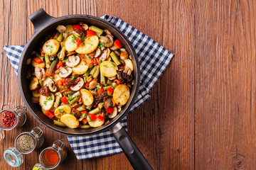
[[[127,156],[127,159],[132,164],[132,167],[137,169],[152,169],[149,162],[146,161],[142,152],[139,151],[138,147],[134,144],[131,137],[129,137],[128,133],[122,127],[121,123],[117,123],[114,125],[110,132],[114,136],[115,140],[117,140],[118,144],[124,151],[124,154]]]

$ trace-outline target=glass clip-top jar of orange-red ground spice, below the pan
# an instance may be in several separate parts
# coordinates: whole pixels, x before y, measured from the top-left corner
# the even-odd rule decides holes
[[[53,154],[57,157],[56,160],[47,159],[47,157],[51,154],[51,158],[53,158]],[[64,139],[56,140],[53,142],[52,147],[47,147],[43,149],[43,151],[39,155],[39,168],[44,169],[55,169],[63,160],[67,157],[67,150],[65,149]]]

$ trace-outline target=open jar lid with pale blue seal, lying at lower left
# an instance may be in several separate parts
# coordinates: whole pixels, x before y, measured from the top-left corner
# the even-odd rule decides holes
[[[24,161],[21,152],[18,152],[15,147],[9,147],[6,149],[6,151],[4,151],[4,159],[9,165],[13,167],[20,166]]]

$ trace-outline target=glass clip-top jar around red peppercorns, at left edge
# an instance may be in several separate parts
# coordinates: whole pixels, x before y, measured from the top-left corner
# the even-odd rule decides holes
[[[6,118],[7,113],[13,113],[15,117],[14,125],[11,127],[7,127],[6,123],[4,123],[4,119]],[[26,122],[26,107],[24,106],[17,106],[16,108],[5,108],[3,111],[0,112],[0,128],[3,130],[12,130],[14,128],[21,127]]]

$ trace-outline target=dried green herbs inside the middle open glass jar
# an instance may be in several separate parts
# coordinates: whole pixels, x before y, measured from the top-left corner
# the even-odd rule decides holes
[[[16,146],[18,147],[18,149],[25,152],[33,149],[34,145],[35,143],[33,141],[33,138],[31,137],[31,135],[28,134],[21,135],[20,137],[18,137],[16,142]]]

